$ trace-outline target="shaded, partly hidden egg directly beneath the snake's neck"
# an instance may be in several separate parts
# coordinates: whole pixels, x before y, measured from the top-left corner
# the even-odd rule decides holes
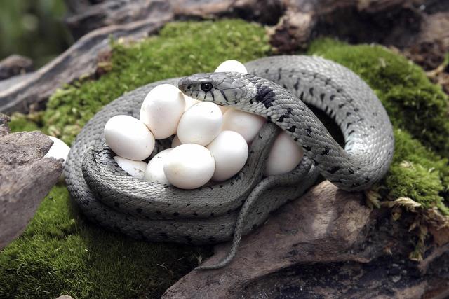
[[[267,120],[262,116],[237,109],[228,109],[223,115],[223,130],[237,132],[243,136],[248,144],[253,141],[260,128]]]

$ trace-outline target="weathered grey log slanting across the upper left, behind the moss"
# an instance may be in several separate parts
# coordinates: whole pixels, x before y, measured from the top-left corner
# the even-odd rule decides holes
[[[142,20],[97,29],[83,36],[65,53],[38,71],[25,75],[22,80],[15,78],[13,84],[0,81],[0,113],[14,111],[26,113],[30,105],[45,101],[65,83],[70,83],[81,76],[94,74],[98,54],[109,50],[111,37],[142,39],[156,32],[170,19],[170,15],[161,15],[158,20]]]

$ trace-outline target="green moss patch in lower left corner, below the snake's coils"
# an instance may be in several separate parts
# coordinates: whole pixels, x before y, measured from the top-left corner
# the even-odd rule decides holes
[[[149,244],[88,223],[55,186],[23,235],[0,254],[0,298],[161,295],[201,251]]]

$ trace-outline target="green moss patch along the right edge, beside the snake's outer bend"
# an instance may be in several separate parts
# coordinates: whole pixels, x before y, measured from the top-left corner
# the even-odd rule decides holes
[[[449,214],[448,99],[424,71],[382,46],[349,46],[332,39],[312,43],[309,54],[334,60],[361,76],[375,90],[395,127],[396,148],[389,173],[380,183],[384,196],[410,197],[424,208]],[[381,189],[382,189],[381,188]]]

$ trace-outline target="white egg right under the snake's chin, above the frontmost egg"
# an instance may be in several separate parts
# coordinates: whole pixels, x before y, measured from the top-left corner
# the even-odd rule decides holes
[[[200,102],[182,115],[177,126],[177,137],[182,144],[206,146],[220,134],[222,123],[222,111],[216,104]]]

